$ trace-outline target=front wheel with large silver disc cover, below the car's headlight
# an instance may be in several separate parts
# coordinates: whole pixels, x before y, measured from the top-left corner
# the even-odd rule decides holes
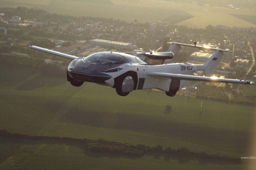
[[[116,92],[119,96],[127,96],[134,89],[133,75],[124,74],[117,79]]]

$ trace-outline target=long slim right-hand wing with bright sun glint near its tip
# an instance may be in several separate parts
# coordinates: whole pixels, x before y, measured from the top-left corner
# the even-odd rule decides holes
[[[170,74],[170,73],[155,73],[148,72],[150,77],[159,78],[159,79],[180,79],[180,80],[191,80],[191,81],[208,81],[216,83],[238,83],[238,84],[255,84],[249,80],[238,80],[238,79],[221,79],[217,77],[203,77],[195,75],[183,75],[183,74]]]

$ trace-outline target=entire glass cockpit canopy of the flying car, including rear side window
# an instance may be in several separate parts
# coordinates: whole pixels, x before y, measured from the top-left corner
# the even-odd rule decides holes
[[[83,58],[85,63],[93,63],[100,65],[110,65],[110,64],[147,64],[146,62],[140,60],[138,57],[128,55],[125,53],[112,53],[112,52],[97,52],[88,57]]]

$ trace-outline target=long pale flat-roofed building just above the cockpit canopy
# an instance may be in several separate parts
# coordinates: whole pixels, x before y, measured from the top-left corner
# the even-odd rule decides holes
[[[137,45],[133,45],[127,42],[94,39],[94,40],[89,40],[89,43],[93,45],[98,45],[98,46],[114,46],[121,49],[130,49],[130,50],[137,49]]]

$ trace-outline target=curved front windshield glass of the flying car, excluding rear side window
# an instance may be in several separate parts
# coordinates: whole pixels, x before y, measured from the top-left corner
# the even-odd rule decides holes
[[[83,61],[86,63],[94,63],[101,65],[128,63],[128,61],[124,57],[110,52],[97,52],[88,57],[85,57]]]

